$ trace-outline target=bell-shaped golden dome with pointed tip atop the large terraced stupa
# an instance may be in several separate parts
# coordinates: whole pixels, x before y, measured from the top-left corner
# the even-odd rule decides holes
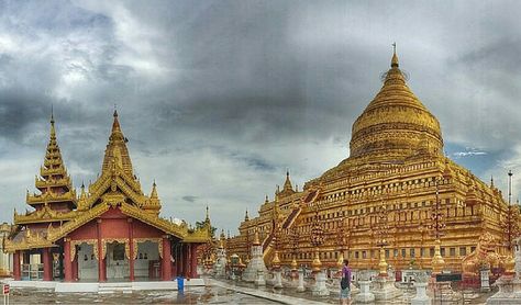
[[[384,86],[353,124],[351,157],[398,161],[419,154],[440,155],[440,122],[412,93],[392,55]]]

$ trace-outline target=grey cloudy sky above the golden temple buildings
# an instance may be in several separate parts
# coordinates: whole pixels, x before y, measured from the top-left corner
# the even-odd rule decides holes
[[[95,180],[117,104],[163,215],[210,206],[236,231],[289,168],[301,185],[348,156],[351,126],[400,67],[445,150],[521,188],[519,2],[0,0],[0,221],[24,211],[48,142]],[[519,173],[518,173],[519,172]]]

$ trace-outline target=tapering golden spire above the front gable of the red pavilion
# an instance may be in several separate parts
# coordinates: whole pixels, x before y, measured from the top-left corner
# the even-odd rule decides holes
[[[104,150],[101,171],[110,171],[115,166],[133,178],[132,161],[129,155],[129,149],[126,148],[128,139],[121,131],[117,110],[114,110],[113,117],[112,131],[109,136],[109,143],[107,144],[107,148]]]

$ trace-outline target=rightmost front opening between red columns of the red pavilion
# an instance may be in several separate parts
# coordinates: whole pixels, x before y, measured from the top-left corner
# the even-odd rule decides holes
[[[137,242],[135,251],[134,276],[136,281],[160,279],[158,242],[151,240]]]

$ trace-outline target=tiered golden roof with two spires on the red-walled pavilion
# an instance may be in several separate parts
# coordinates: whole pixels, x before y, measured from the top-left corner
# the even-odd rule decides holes
[[[42,178],[45,181],[65,182],[41,189],[41,195],[27,194],[27,203],[33,203],[37,210],[27,212],[25,215],[14,212],[14,223],[19,225],[18,234],[5,240],[4,249],[7,251],[52,247],[55,245],[54,242],[101,216],[110,207],[118,207],[124,215],[176,236],[184,242],[206,242],[211,238],[208,207],[204,224],[197,229],[189,228],[185,222],[177,224],[159,217],[162,205],[157,185],[154,181],[149,196],[141,191],[141,183],[133,174],[126,138],[121,131],[118,113],[114,112],[113,116],[114,121],[101,176],[89,185],[88,191],[84,184],[81,185],[79,199],[76,199],[75,191],[69,187],[69,178],[66,176],[62,162],[59,148],[56,144],[54,118],[52,118],[51,142],[47,147]],[[47,174],[48,172],[53,173]],[[77,208],[63,210],[62,207],[59,211],[52,208],[52,204],[60,202],[74,202],[75,205],[77,203]],[[37,226],[37,229],[33,231],[32,225],[37,223],[48,223],[48,227],[42,229],[41,226]]]

